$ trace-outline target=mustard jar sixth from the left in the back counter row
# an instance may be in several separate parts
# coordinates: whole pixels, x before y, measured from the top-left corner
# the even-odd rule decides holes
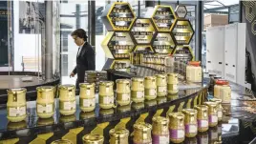
[[[131,103],[130,81],[127,79],[117,79],[117,104],[120,106]]]

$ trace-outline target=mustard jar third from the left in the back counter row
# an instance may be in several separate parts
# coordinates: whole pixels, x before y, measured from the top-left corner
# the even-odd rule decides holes
[[[75,113],[75,86],[60,85],[59,88],[59,113],[62,115],[71,115]]]

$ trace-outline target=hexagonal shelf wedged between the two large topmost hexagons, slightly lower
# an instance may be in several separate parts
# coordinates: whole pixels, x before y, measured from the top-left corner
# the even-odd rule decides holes
[[[138,44],[150,44],[156,30],[151,18],[138,18],[132,27],[131,33]]]

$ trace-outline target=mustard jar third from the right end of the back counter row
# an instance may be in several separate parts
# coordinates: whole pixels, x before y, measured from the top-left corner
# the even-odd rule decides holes
[[[157,97],[157,79],[155,76],[146,76],[144,78],[145,99],[151,100]]]

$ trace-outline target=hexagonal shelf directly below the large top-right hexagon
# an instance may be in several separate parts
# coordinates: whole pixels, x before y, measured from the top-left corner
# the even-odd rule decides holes
[[[169,32],[159,32],[153,42],[153,48],[158,53],[171,53],[175,46],[174,38]]]

